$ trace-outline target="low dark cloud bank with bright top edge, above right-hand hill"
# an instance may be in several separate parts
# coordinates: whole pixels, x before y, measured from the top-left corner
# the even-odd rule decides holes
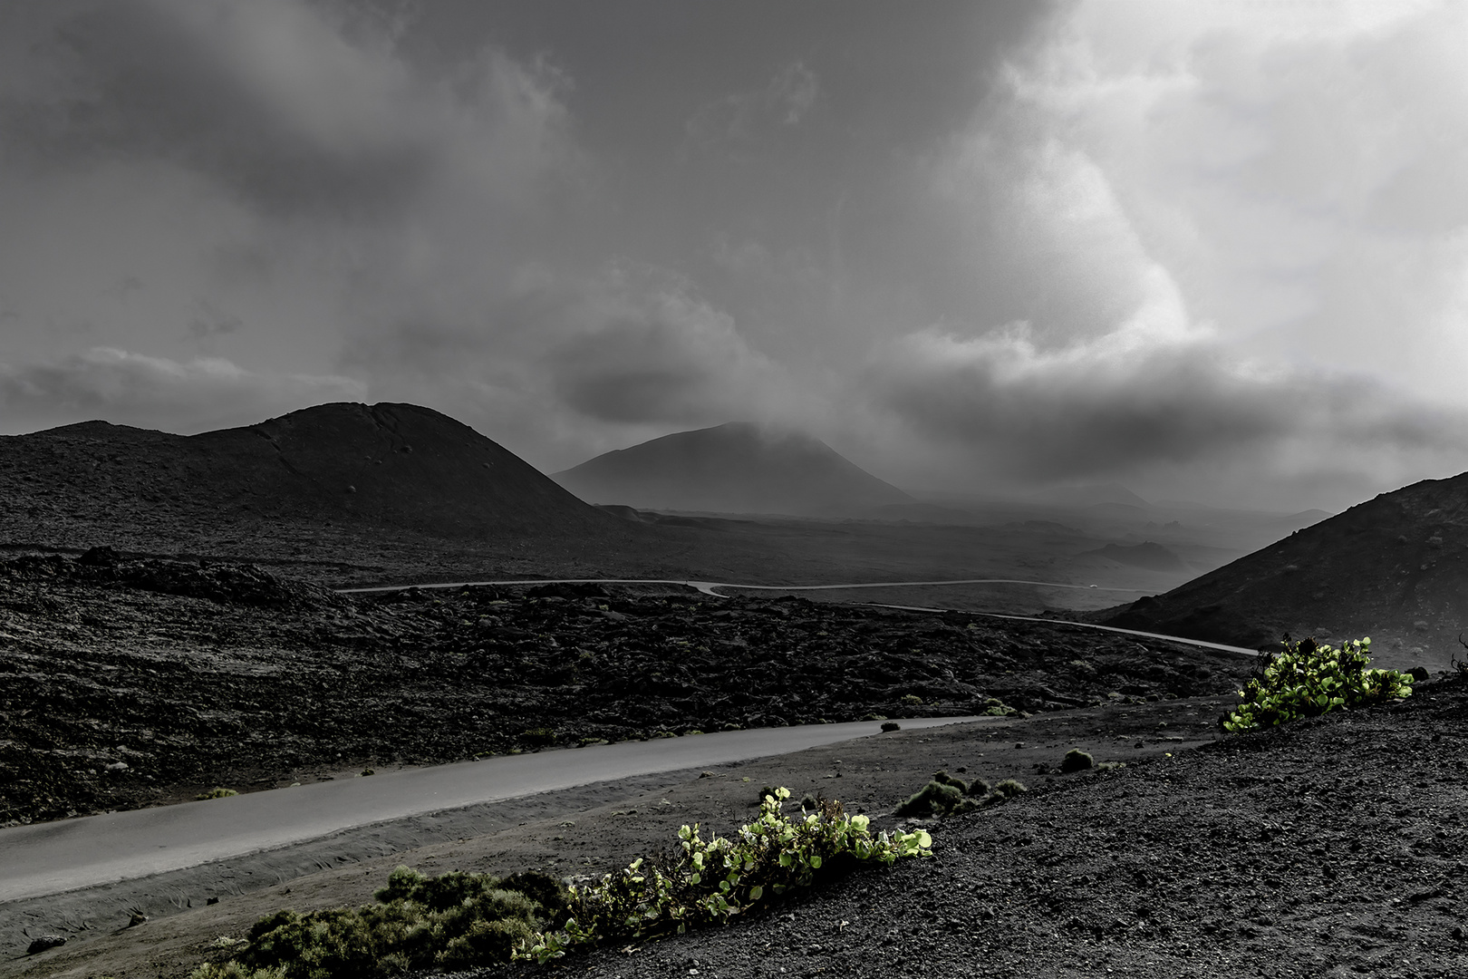
[[[1022,329],[929,330],[893,345],[869,377],[910,429],[1042,480],[1468,451],[1468,412],[1424,408],[1364,376],[1262,371],[1202,336],[1142,345],[1117,332],[1042,351]]]

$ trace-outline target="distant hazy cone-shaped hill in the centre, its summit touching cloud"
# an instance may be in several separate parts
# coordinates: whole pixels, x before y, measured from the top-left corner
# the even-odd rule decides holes
[[[644,509],[834,517],[913,502],[819,439],[743,423],[608,452],[552,478],[595,503]]]

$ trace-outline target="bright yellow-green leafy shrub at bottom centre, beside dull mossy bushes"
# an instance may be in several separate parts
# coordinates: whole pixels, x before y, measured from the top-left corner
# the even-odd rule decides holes
[[[564,928],[537,935],[515,957],[546,963],[577,945],[683,933],[809,887],[818,873],[843,865],[932,856],[926,832],[873,837],[866,816],[847,816],[834,800],[793,819],[781,813],[787,798],[788,788],[768,794],[759,819],[731,838],[705,841],[697,825],[683,826],[675,856],[662,866],[639,859],[599,884],[570,888],[571,917]]]

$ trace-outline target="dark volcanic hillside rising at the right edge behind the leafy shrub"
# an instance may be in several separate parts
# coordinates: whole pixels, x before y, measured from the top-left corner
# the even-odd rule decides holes
[[[1107,625],[1238,646],[1284,633],[1370,636],[1383,665],[1468,656],[1468,473],[1352,506],[1171,592],[1097,612]]]

